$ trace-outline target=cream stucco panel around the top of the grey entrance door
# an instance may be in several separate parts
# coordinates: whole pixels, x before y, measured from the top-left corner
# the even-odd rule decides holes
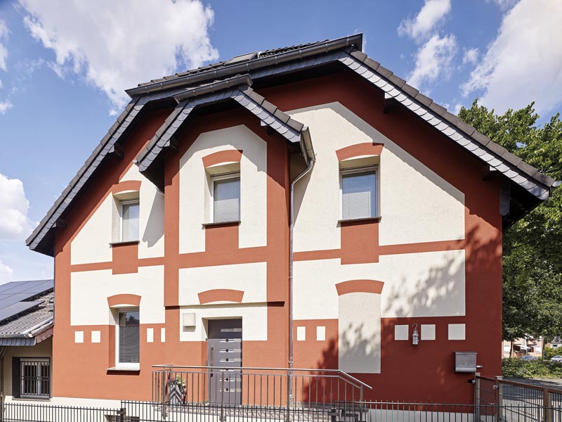
[[[195,313],[195,327],[183,327],[184,313]],[[204,319],[242,318],[242,340],[268,339],[268,307],[259,304],[180,307],[180,341],[207,340]]]

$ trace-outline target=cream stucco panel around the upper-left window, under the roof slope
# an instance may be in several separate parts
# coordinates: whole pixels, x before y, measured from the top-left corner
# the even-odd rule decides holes
[[[120,181],[141,181],[139,191],[139,244],[138,257],[164,256],[164,196],[133,165]],[[119,231],[115,215],[115,199],[108,194],[93,212],[84,227],[70,243],[70,263],[89,264],[112,260],[110,243],[117,241],[113,233]]]

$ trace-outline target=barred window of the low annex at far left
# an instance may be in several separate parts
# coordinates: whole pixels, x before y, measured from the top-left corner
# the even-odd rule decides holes
[[[20,397],[48,399],[51,395],[51,362],[20,359]]]

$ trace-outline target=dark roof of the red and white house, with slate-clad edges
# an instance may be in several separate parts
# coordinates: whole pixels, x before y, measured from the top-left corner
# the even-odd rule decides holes
[[[211,103],[234,100],[251,111],[259,108],[259,113],[254,111],[252,113],[258,115],[261,124],[277,132],[301,127],[300,143],[294,143],[301,147],[301,153],[306,159],[308,154],[313,153],[308,128],[294,120],[291,123],[285,113],[268,103],[259,94],[254,92],[253,95],[248,96],[251,84],[234,85],[235,82],[240,82],[238,81],[240,78],[256,83],[256,81],[277,77],[278,81],[279,77],[289,79],[298,72],[315,71],[325,65],[333,64],[340,67],[343,65],[365,78],[374,87],[384,91],[386,100],[399,103],[419,115],[452,142],[485,162],[491,174],[498,174],[503,181],[506,181],[507,186],[503,186],[502,191],[507,192],[508,205],[510,205],[507,209],[511,208],[511,211],[504,215],[504,227],[514,224],[542,200],[549,198],[551,191],[559,186],[559,182],[490,141],[487,136],[477,132],[459,117],[449,113],[446,108],[408,85],[404,79],[393,75],[393,72],[367,57],[361,49],[362,34],[355,34],[339,39],[242,54],[230,60],[153,79],[139,84],[138,87],[127,89],[131,102],[117,117],[117,121],[100,141],[90,158],[86,160],[46,217],[27,239],[27,245],[32,250],[53,255],[53,231],[58,226],[65,225],[63,217],[70,205],[103,162],[111,156],[121,154],[122,143],[131,130],[133,122],[142,115],[147,106],[164,100],[175,99],[179,104],[136,159],[141,172],[157,185],[159,177],[156,175],[157,172],[151,169],[157,167],[158,159],[166,151],[174,151],[176,148],[174,134],[190,114],[192,110],[190,104],[195,108],[195,106],[208,106]],[[236,90],[247,98],[242,98],[235,93]],[[230,91],[230,95],[227,95],[226,91]],[[205,96],[205,100],[202,96]],[[236,98],[237,96],[239,98]],[[299,136],[294,135],[294,141],[297,141]],[[308,147],[303,139],[308,139]]]

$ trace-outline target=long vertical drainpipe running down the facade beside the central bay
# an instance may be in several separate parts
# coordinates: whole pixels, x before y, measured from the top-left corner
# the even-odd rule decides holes
[[[291,182],[290,196],[290,226],[289,226],[289,369],[293,368],[293,229],[294,229],[294,186],[297,181],[301,180],[306,174],[311,172],[316,162],[314,149],[312,146],[311,134],[308,127],[301,129],[301,151],[306,162],[306,169],[296,176]],[[292,382],[290,381],[292,371],[289,371],[289,398],[292,402]],[[288,405],[288,403],[287,403]]]

